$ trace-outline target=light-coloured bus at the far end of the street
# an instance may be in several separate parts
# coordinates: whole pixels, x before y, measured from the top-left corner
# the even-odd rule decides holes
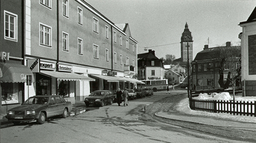
[[[140,80],[145,84],[137,84],[138,88],[152,88],[154,92],[166,90],[168,86],[167,79]]]

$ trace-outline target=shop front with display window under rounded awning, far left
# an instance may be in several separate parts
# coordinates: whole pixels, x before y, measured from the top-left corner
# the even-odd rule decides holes
[[[31,86],[33,73],[27,66],[18,63],[0,63],[1,119],[8,109],[19,106],[25,100],[24,87]],[[25,84],[27,83],[27,84]]]

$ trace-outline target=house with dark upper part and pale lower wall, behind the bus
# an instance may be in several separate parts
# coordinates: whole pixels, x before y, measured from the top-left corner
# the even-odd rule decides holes
[[[163,60],[158,59],[154,50],[147,53],[138,54],[138,79],[163,79],[164,65]]]

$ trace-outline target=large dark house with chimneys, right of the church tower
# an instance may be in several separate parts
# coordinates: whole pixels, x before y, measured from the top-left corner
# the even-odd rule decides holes
[[[192,66],[192,87],[196,86],[214,86],[224,87],[230,86],[230,80],[227,80],[232,75],[236,75],[240,68],[239,56],[231,59],[225,57],[233,50],[241,50],[240,46],[231,46],[230,41],[226,46],[209,48],[205,45],[204,50],[198,52]],[[239,86],[241,77],[236,80],[236,86]]]

